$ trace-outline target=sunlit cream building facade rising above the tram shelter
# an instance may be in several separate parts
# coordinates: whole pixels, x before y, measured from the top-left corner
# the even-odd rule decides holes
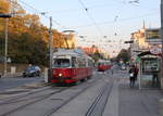
[[[152,48],[161,48],[161,38],[159,28],[141,28],[130,36],[130,60],[136,61],[137,55],[141,52],[150,51]]]

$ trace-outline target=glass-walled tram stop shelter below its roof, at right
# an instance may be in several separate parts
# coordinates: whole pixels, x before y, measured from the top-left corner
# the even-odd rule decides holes
[[[161,87],[161,59],[141,57],[140,60],[140,88]]]

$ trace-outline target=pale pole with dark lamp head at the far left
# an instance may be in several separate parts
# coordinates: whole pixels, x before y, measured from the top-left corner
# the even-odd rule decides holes
[[[5,55],[4,55],[4,76],[5,76],[8,65],[8,20],[11,17],[11,14],[0,14],[0,17],[5,18]]]

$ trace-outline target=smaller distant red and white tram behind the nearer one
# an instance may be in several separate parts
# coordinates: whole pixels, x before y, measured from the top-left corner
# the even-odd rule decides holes
[[[98,72],[105,72],[111,68],[111,62],[106,60],[99,60],[98,62]]]

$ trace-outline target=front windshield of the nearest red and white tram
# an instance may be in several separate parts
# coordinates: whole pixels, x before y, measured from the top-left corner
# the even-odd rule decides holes
[[[71,63],[68,59],[55,59],[53,67],[70,67]]]

